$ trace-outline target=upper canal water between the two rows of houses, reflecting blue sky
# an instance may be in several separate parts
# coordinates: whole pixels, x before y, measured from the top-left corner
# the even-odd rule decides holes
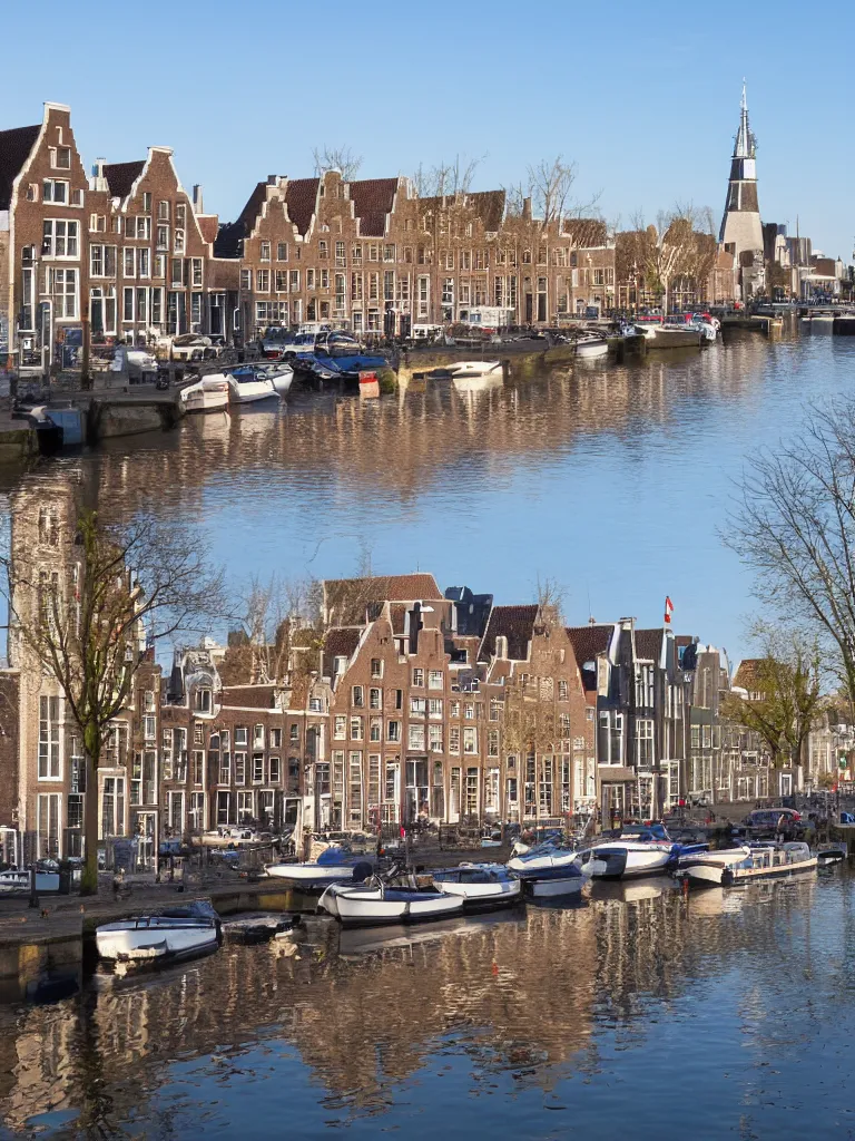
[[[806,402],[854,379],[855,339],[735,333],[627,365],[515,364],[483,388],[294,393],[116,440],[84,466],[101,501],[197,525],[236,592],[253,575],[334,577],[369,563],[506,604],[553,577],[571,623],[658,625],[670,594],[678,632],[739,657],[752,599],[720,537],[733,479],[746,455],[799,430]]]

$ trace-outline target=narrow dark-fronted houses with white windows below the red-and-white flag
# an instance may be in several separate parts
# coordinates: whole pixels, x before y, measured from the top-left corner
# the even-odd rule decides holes
[[[633,618],[569,633],[596,693],[603,824],[660,815],[685,790],[693,656],[684,664],[670,630],[637,630]]]

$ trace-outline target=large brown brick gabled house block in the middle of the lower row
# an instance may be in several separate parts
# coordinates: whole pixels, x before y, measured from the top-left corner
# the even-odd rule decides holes
[[[427,580],[427,582],[425,582]],[[325,584],[331,822],[556,820],[596,801],[572,647],[538,606],[431,576]],[[392,593],[378,601],[377,597]],[[417,598],[401,599],[401,594]],[[521,729],[508,726],[519,721]]]

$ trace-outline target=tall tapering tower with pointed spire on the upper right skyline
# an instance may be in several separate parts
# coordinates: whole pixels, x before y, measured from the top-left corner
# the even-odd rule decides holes
[[[742,84],[739,130],[731,159],[727,202],[718,241],[735,258],[742,298],[763,288],[763,224],[757,202],[757,139],[748,122],[746,84]]]

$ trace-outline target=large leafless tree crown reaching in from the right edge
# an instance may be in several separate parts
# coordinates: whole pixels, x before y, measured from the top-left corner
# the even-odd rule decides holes
[[[817,638],[855,712],[855,399],[808,406],[798,438],[752,456],[724,541]]]

